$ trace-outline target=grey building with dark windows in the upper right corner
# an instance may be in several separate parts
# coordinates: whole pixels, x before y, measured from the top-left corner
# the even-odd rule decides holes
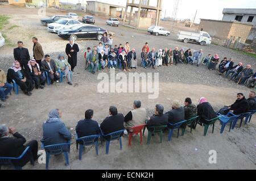
[[[229,9],[225,8],[222,11],[224,21],[242,22],[252,24],[251,32],[247,37],[248,40],[253,41],[256,38],[256,9]]]

